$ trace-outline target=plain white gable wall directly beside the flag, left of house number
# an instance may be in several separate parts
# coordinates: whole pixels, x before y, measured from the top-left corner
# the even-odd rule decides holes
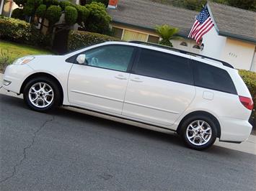
[[[213,27],[203,36],[203,45],[203,50],[200,52],[201,55],[220,59],[221,52],[226,45],[226,37],[219,36],[215,27]]]

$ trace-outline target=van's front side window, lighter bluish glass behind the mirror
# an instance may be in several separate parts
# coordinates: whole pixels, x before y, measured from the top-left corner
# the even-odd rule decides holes
[[[85,52],[87,65],[126,72],[133,55],[133,47],[108,45]]]

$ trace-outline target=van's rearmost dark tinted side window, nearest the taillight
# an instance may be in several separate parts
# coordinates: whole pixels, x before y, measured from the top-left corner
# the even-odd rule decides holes
[[[234,83],[226,70],[195,60],[191,62],[193,62],[196,86],[237,94]]]

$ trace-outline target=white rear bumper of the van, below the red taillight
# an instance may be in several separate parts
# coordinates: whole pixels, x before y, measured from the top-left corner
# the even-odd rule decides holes
[[[242,142],[246,141],[252,131],[252,125],[242,119],[219,118],[221,123],[220,141]]]

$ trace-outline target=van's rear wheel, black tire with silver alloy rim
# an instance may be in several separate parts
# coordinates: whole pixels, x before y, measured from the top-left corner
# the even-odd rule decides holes
[[[185,145],[190,149],[208,149],[217,137],[216,124],[208,116],[191,116],[187,118],[180,131]]]

